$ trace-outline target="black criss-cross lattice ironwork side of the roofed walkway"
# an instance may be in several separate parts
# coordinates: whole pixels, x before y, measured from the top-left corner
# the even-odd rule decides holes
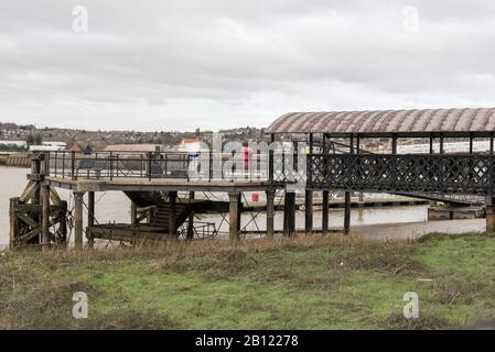
[[[483,154],[310,154],[308,187],[492,195],[494,157]]]

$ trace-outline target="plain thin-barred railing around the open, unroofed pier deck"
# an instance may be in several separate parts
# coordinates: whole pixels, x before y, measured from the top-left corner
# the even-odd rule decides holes
[[[180,178],[273,180],[273,153],[95,152],[47,153],[51,176],[62,178]],[[279,174],[280,176],[280,174]]]

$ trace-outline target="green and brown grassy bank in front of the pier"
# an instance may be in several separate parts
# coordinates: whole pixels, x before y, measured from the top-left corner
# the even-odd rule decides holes
[[[85,292],[88,319],[72,317]],[[416,292],[420,318],[402,317]],[[0,255],[0,329],[442,329],[495,316],[495,239],[334,235]]]

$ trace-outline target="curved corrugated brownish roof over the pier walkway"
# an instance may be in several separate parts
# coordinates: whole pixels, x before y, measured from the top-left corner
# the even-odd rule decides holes
[[[268,133],[434,133],[495,131],[495,108],[290,112]]]

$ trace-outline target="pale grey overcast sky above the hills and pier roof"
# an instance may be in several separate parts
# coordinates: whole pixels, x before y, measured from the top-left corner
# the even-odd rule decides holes
[[[191,131],[495,106],[493,0],[0,4],[0,121]]]

